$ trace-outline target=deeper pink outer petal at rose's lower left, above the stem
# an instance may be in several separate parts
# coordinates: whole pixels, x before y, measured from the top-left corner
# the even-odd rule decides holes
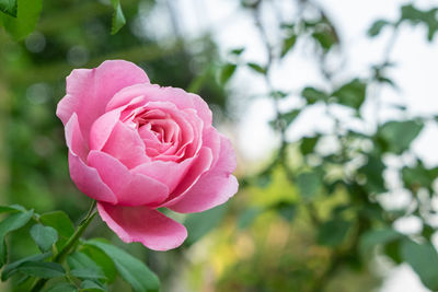
[[[81,159],[69,151],[70,177],[80,191],[99,201],[116,203],[117,198],[105,185],[95,168],[88,166]]]

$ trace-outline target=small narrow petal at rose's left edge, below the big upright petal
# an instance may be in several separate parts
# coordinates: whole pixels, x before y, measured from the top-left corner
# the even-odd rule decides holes
[[[79,128],[78,116],[71,115],[66,124],[66,143],[69,150],[78,155],[83,162],[87,160],[89,149]]]

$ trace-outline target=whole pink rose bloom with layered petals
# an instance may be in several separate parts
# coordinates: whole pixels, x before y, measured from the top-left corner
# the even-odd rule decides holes
[[[71,179],[97,200],[100,215],[126,243],[175,248],[187,231],[158,208],[200,212],[238,191],[234,151],[211,126],[208,105],[151,84],[131,62],[73,70],[56,114]]]

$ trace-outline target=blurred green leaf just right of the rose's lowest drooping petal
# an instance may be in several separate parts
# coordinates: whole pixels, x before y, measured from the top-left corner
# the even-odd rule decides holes
[[[226,211],[227,206],[221,205],[208,211],[188,214],[184,221],[184,225],[188,233],[185,244],[192,245],[196,243],[204,235],[215,229],[222,221]]]

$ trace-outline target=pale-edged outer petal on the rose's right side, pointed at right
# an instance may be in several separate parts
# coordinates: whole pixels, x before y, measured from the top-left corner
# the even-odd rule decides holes
[[[221,136],[220,155],[212,170],[205,173],[180,201],[169,207],[180,213],[201,212],[224,203],[239,188],[231,173],[235,168],[235,154],[230,141]]]

